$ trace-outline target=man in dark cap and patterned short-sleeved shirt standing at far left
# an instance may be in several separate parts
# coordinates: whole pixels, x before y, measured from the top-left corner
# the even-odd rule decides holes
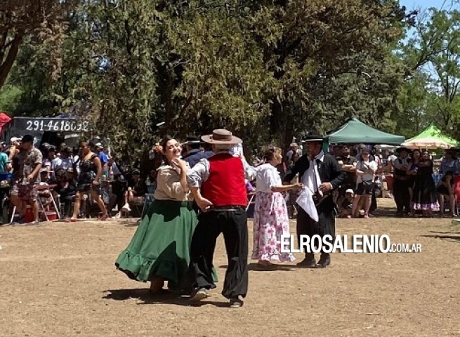
[[[14,169],[14,183],[11,187],[11,202],[18,209],[22,222],[27,204],[32,204],[34,221],[39,218],[39,204],[37,202],[37,189],[34,188],[37,176],[43,161],[40,150],[34,147],[34,137],[25,135],[21,140],[21,152],[17,154]]]

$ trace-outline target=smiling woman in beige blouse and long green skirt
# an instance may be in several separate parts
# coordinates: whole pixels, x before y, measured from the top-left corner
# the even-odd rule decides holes
[[[166,164],[158,169],[155,200],[115,263],[131,279],[150,281],[152,293],[160,291],[166,280],[169,289],[183,284],[197,226],[187,187],[187,164],[180,159],[182,147],[172,138],[161,145]]]

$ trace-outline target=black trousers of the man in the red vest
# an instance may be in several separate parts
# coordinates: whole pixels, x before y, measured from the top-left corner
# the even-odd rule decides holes
[[[243,297],[248,289],[248,229],[244,209],[237,211],[209,211],[201,213],[190,247],[190,269],[197,288],[213,289],[212,260],[216,240],[223,233],[228,256],[228,268],[222,295],[226,298]]]

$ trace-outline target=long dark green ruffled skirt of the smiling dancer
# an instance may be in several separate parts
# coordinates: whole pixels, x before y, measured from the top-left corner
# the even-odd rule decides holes
[[[147,282],[159,276],[170,289],[183,288],[197,222],[192,202],[153,201],[115,265],[131,279]]]

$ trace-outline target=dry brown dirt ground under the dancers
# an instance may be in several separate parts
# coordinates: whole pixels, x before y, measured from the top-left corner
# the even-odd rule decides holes
[[[334,253],[320,270],[251,261],[240,309],[225,308],[222,282],[194,307],[115,270],[133,220],[0,226],[0,336],[460,336],[460,225],[391,218],[392,201],[379,203],[379,218],[338,220],[337,234],[388,234],[421,253]],[[214,262],[223,280],[222,238]]]

